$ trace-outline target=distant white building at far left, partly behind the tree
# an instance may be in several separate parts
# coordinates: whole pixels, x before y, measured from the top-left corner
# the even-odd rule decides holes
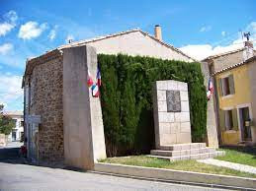
[[[24,120],[22,111],[5,111],[4,115],[15,120],[15,128],[8,135],[8,141],[20,141],[24,134]]]

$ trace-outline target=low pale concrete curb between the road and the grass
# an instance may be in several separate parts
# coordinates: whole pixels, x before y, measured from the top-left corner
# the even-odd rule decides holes
[[[96,172],[125,177],[234,189],[256,189],[256,178],[97,162]]]

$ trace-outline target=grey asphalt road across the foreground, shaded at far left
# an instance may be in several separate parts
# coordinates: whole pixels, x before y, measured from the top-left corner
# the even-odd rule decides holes
[[[0,190],[220,190],[28,165],[15,153],[0,148]]]

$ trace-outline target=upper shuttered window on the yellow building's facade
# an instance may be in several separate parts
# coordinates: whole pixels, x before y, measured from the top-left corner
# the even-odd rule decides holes
[[[218,79],[219,96],[234,95],[234,80],[233,75]]]

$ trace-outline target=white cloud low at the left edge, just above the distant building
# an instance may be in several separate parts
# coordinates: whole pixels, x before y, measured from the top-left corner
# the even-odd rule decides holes
[[[23,90],[22,77],[9,74],[0,74],[0,103],[5,106],[15,105],[19,103],[22,105]],[[13,109],[6,107],[6,109]]]

